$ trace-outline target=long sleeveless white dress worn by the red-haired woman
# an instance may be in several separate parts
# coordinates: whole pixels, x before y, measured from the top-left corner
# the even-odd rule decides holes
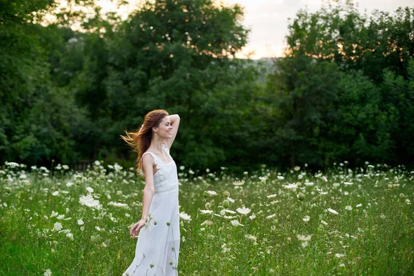
[[[177,166],[164,144],[162,149],[170,157],[169,163],[152,152],[144,153],[152,155],[158,169],[154,175],[155,195],[146,225],[139,230],[135,258],[123,276],[178,275],[180,233]],[[144,175],[142,169],[141,175]]]

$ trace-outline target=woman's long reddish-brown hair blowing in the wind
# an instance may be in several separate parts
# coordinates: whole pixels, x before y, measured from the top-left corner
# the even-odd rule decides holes
[[[137,168],[136,172],[139,173],[141,170],[141,157],[148,150],[151,144],[152,139],[152,128],[159,127],[159,123],[164,117],[168,116],[168,112],[163,109],[152,110],[148,112],[144,117],[144,124],[139,130],[135,132],[127,132],[125,130],[126,136],[121,135],[121,138],[126,141],[126,143],[132,148],[134,152],[137,152]]]

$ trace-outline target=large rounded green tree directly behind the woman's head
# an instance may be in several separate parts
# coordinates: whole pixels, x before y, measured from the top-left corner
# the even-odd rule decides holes
[[[110,39],[88,41],[77,99],[106,130],[95,132],[92,148],[125,148],[119,133],[165,108],[181,116],[174,150],[183,164],[219,168],[244,156],[248,133],[240,122],[253,107],[258,76],[248,61],[229,59],[246,43],[241,17],[239,6],[212,1],[148,2]]]

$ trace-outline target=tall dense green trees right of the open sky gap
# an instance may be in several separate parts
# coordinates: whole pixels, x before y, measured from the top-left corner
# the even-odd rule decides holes
[[[368,19],[350,1],[298,12],[287,57],[268,77],[277,161],[322,168],[413,158],[413,12]]]

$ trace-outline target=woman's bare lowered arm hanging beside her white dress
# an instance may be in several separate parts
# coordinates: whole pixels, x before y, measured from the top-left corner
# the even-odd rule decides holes
[[[130,235],[132,237],[138,237],[137,233],[141,228],[144,227],[148,212],[150,210],[150,205],[152,197],[154,196],[154,172],[152,170],[153,157],[151,155],[144,155],[142,157],[142,168],[145,173],[145,188],[144,196],[142,197],[142,215],[141,220],[134,224],[130,229]]]

